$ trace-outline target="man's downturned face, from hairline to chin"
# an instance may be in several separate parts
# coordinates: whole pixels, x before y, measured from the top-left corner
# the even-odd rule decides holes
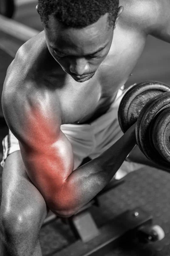
[[[113,27],[108,14],[83,29],[66,28],[52,15],[44,28],[48,49],[62,69],[77,82],[91,79],[108,55]]]

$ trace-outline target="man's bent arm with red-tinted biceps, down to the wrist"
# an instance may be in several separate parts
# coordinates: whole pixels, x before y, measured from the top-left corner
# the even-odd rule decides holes
[[[19,102],[18,107],[16,100],[10,99],[9,104],[3,101],[6,121],[20,142],[28,177],[47,206],[59,216],[73,215],[115,175],[136,143],[135,127],[99,157],[73,172],[74,154],[71,143],[60,130],[61,115],[56,98],[28,95],[27,101],[23,99],[24,104]]]

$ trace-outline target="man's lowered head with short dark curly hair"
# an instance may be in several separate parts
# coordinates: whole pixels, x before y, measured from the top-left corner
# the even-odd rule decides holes
[[[119,0],[39,0],[37,6],[51,55],[79,82],[107,56],[122,10]]]

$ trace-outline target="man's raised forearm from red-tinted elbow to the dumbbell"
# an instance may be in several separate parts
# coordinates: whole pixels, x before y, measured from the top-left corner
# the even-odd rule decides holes
[[[109,183],[135,144],[134,126],[99,157],[74,170],[55,197],[56,213],[72,215],[93,199]]]

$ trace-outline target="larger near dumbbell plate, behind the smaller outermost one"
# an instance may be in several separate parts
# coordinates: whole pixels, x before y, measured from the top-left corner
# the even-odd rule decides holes
[[[157,95],[144,105],[136,123],[136,141],[140,150],[149,160],[159,164],[165,169],[170,169],[170,162],[167,157],[161,157],[162,154],[160,155],[154,146],[154,143],[156,143],[156,132],[153,132],[156,118],[167,108],[170,108],[170,92]],[[160,127],[160,129],[159,132],[164,133],[164,127]],[[170,140],[168,141],[170,143]],[[158,143],[157,147],[159,148],[159,146]],[[165,158],[167,160],[165,160]]]

